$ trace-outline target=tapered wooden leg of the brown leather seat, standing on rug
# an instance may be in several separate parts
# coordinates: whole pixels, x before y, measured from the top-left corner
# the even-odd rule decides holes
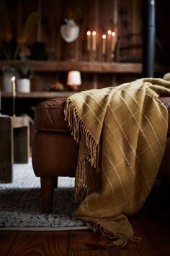
[[[42,213],[51,213],[53,208],[54,177],[41,177]]]

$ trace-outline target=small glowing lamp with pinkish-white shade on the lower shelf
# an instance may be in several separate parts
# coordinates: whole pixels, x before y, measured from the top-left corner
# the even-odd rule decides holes
[[[79,85],[81,85],[81,74],[79,71],[72,70],[68,72],[67,85],[72,90],[77,90],[79,88]]]

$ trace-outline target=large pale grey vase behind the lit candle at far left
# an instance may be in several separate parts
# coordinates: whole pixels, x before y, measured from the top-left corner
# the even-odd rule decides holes
[[[17,82],[19,73],[14,67],[7,67],[3,70],[2,90],[6,93],[12,93],[12,77],[15,77]]]

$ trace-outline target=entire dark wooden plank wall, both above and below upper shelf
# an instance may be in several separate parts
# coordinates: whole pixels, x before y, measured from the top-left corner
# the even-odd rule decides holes
[[[30,12],[37,12],[41,2],[41,29],[35,29],[28,45],[36,41],[45,43],[44,61],[117,61],[141,62],[143,48],[143,0],[6,0],[5,4],[12,23],[14,39],[17,38],[25,18]],[[156,61],[170,63],[169,51],[169,0],[156,1]],[[69,10],[73,10],[75,20],[80,26],[79,38],[66,43],[60,34],[64,19]],[[166,24],[166,25],[165,25]],[[107,40],[107,54],[102,54],[102,35],[107,30],[116,33],[115,59],[110,58],[111,51]],[[97,32],[97,50],[87,51],[86,32]],[[37,32],[38,31],[38,32]],[[108,39],[108,38],[107,38]],[[162,40],[161,40],[162,39]],[[158,51],[157,51],[158,50]],[[34,90],[42,90],[46,83],[56,81],[66,83],[66,72],[36,72]],[[140,77],[138,74],[99,74],[84,73],[82,90],[102,88],[128,82]]]

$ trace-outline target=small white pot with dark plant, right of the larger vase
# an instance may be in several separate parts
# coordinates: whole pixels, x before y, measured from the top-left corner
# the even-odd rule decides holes
[[[19,79],[17,80],[17,92],[30,93],[30,80],[33,77],[33,72],[30,68],[29,60],[23,59],[19,64],[17,64],[17,71],[19,73]]]

